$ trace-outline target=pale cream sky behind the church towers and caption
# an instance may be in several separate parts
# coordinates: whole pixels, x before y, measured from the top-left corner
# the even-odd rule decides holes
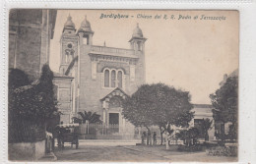
[[[59,41],[69,14],[77,29],[87,16],[95,31],[93,44],[100,46],[105,42],[109,47],[129,49],[128,41],[138,23],[148,38],[146,82],[163,82],[189,91],[192,103],[210,104],[209,95],[220,88],[224,74],[238,69],[239,13],[236,11],[58,10],[50,42],[49,63],[54,72],[59,71]],[[128,18],[100,19],[111,14]],[[155,19],[156,15],[160,19]],[[164,15],[167,19],[163,19]]]

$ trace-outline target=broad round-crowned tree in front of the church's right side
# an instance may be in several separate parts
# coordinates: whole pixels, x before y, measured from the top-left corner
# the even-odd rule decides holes
[[[193,118],[192,104],[187,91],[177,90],[163,83],[143,84],[123,103],[124,117],[135,126],[144,126],[150,132],[150,126],[160,127],[162,134],[173,132],[170,125],[188,127]],[[147,140],[148,142],[148,140]]]

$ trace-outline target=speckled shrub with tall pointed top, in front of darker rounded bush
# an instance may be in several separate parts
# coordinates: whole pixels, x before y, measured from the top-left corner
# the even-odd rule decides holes
[[[13,74],[10,74],[10,76]],[[13,79],[14,78],[10,78]],[[53,97],[53,73],[48,65],[42,67],[39,82],[31,87],[22,87],[22,89],[12,89],[11,110],[13,114],[30,120],[32,123],[46,123],[54,112],[57,112],[56,102]],[[10,88],[11,89],[11,88]]]

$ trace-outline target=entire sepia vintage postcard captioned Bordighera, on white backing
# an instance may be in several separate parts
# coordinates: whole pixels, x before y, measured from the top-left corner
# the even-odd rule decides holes
[[[238,161],[239,11],[8,14],[9,161]]]

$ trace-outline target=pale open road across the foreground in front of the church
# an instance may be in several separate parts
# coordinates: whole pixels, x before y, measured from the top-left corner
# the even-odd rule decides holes
[[[80,141],[79,149],[70,144],[54,152],[58,161],[77,162],[235,162],[235,157],[210,156],[207,152],[179,152],[176,145],[136,146],[137,141]],[[119,145],[121,144],[121,145]]]

